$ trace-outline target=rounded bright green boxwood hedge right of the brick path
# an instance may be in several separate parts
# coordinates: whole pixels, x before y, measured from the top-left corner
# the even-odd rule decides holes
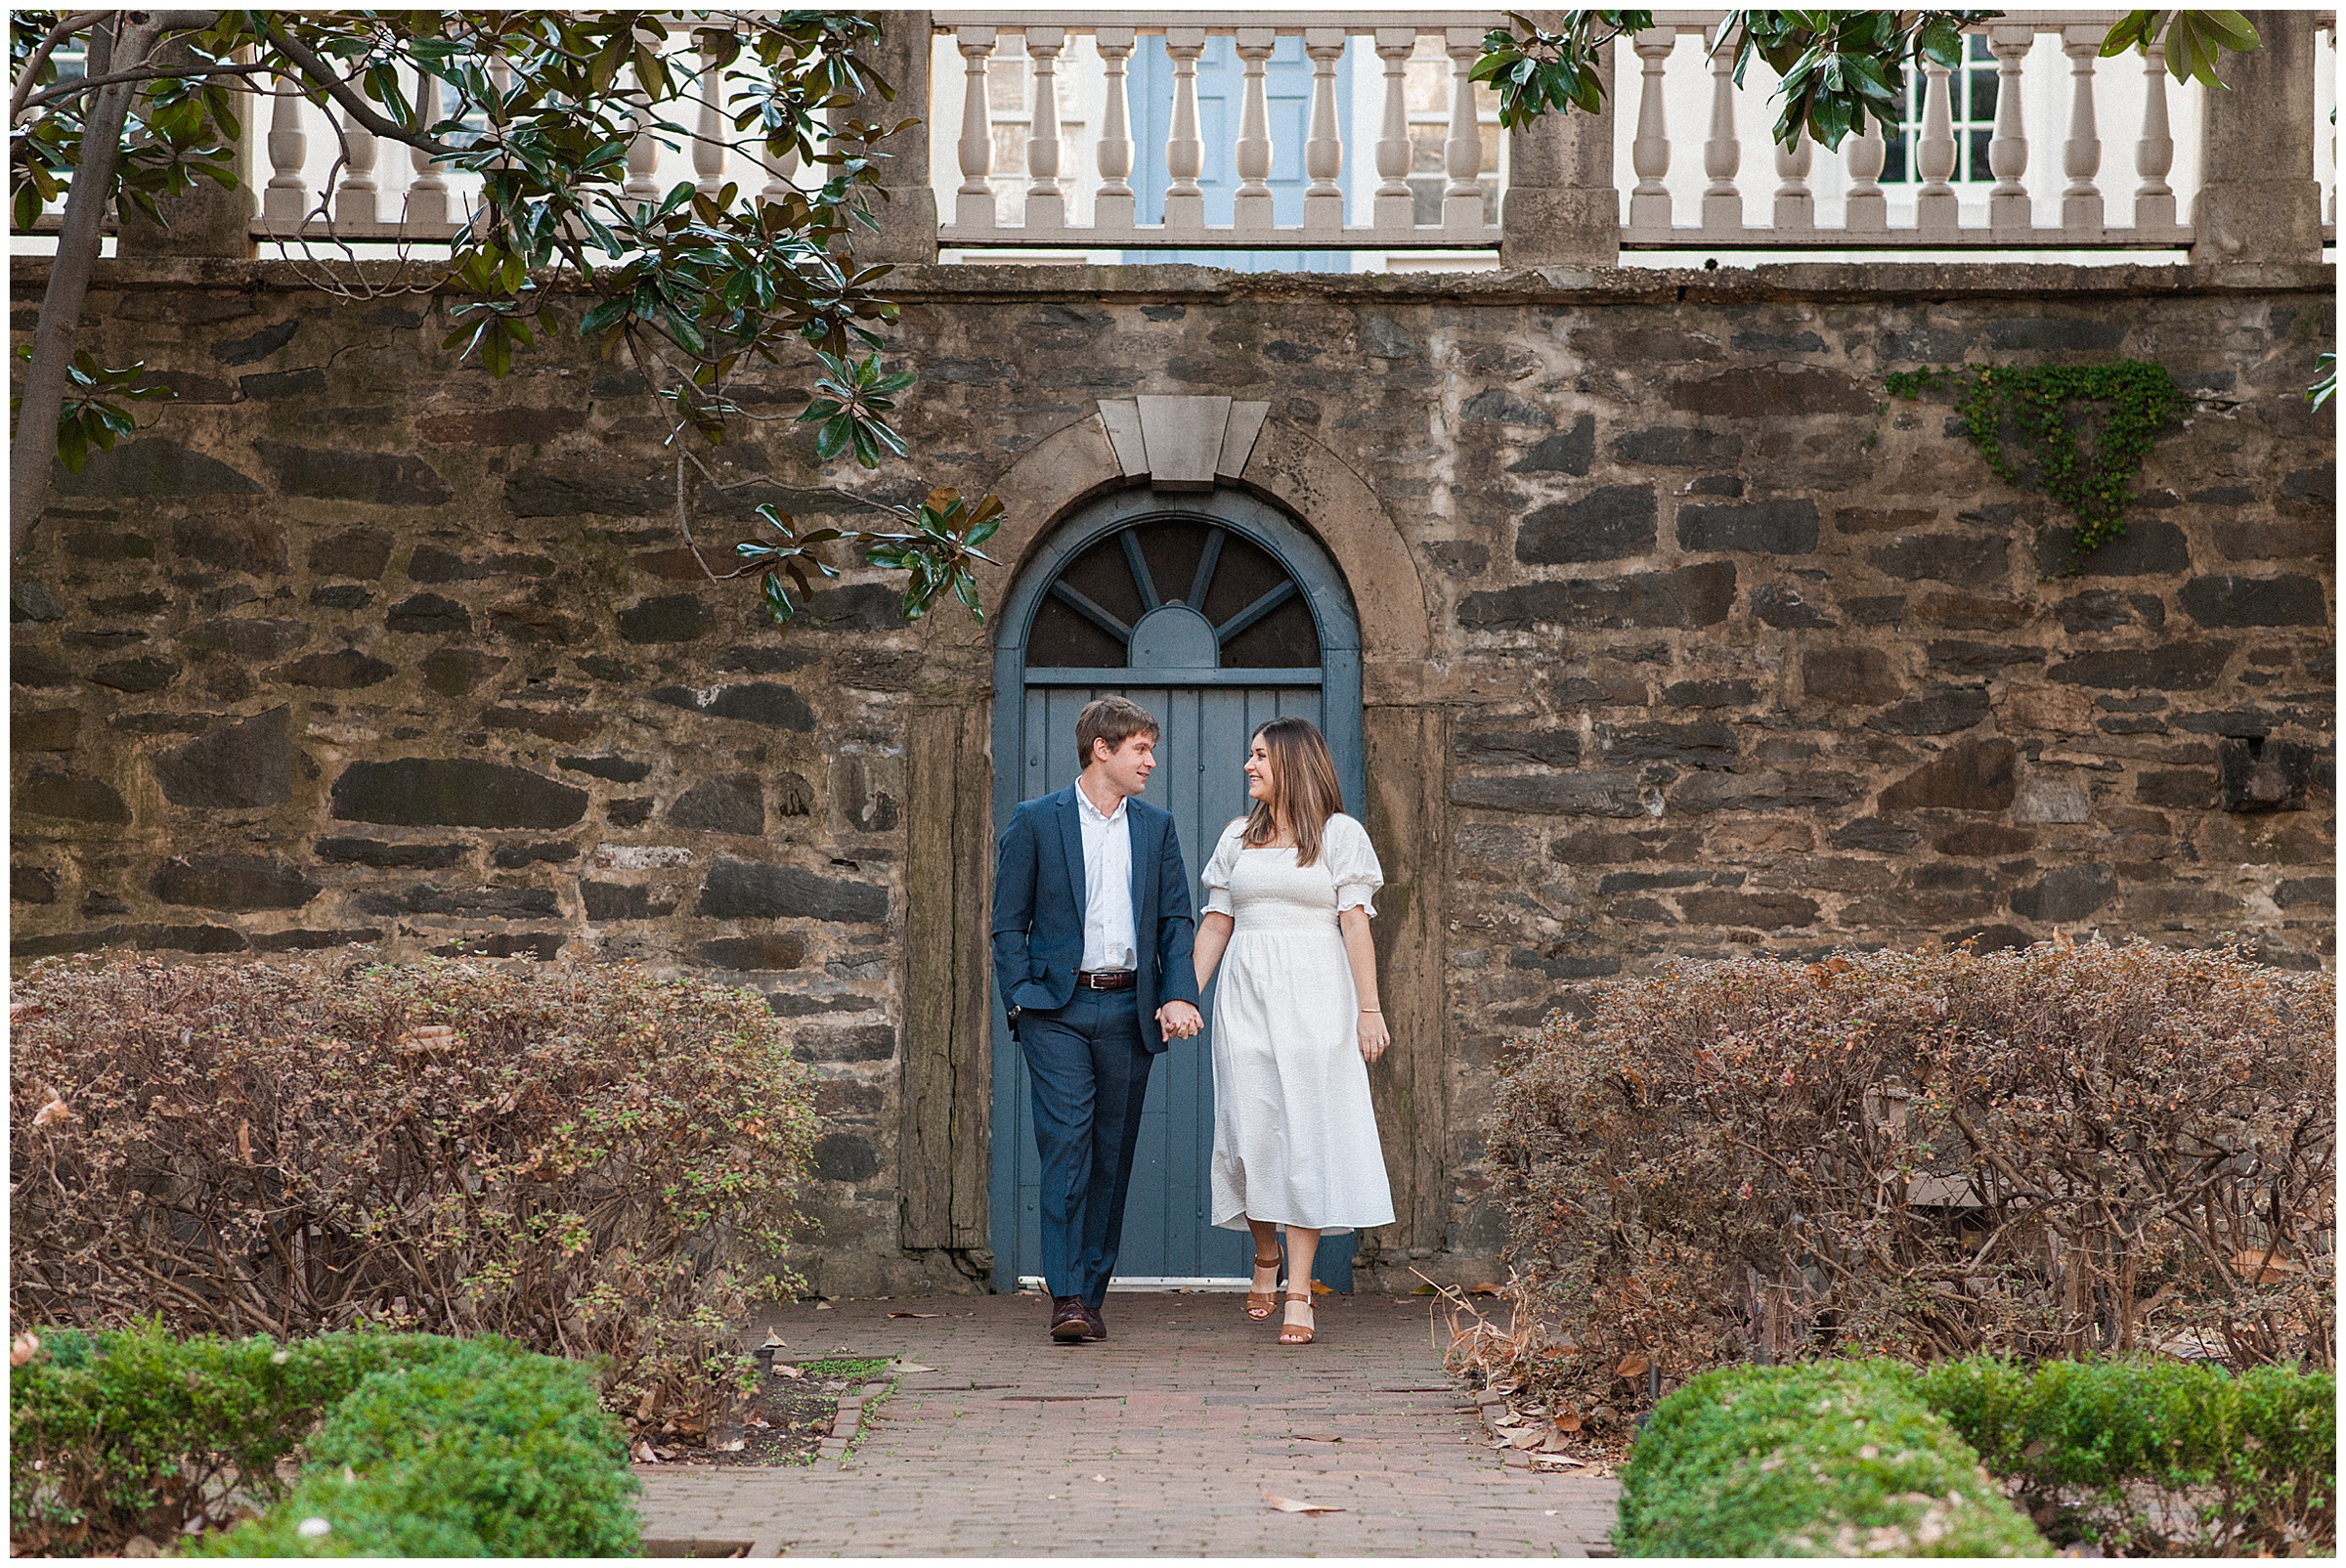
[[[1891,1361],[1727,1366],[1654,1408],[1621,1472],[1623,1556],[2048,1556]]]

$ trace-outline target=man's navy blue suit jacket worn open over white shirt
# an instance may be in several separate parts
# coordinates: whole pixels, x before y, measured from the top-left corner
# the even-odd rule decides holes
[[[1004,1007],[1056,1012],[1074,998],[1084,962],[1084,824],[1077,786],[1025,800],[1011,812],[995,857],[995,984]],[[1173,812],[1126,796],[1133,836],[1133,991],[1140,1040],[1166,1049],[1157,1028],[1164,1002],[1196,1002],[1196,915],[1189,908],[1189,869],[1180,859]]]

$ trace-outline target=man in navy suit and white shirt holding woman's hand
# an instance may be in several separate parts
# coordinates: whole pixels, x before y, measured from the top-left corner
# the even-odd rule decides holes
[[[1011,812],[995,861],[995,984],[1035,1089],[1051,1338],[1105,1340],[1150,1066],[1203,1028],[1189,869],[1173,815],[1138,800],[1157,721],[1100,697],[1074,721],[1084,772]]]

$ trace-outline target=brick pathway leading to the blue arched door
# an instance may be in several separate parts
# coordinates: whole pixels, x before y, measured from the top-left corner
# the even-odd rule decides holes
[[[1614,1483],[1501,1465],[1424,1298],[1323,1296],[1300,1350],[1239,1300],[1117,1293],[1112,1338],[1077,1347],[1044,1338],[1032,1296],[784,1307],[786,1354],[934,1371],[875,1406],[838,1469],[638,1467],[643,1533],[791,1556],[1605,1554]]]

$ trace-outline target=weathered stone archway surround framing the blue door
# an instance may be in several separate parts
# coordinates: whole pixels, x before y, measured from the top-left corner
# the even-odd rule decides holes
[[[1138,415],[1138,401],[1126,404]],[[1246,439],[1243,413],[1232,427],[1229,399],[1152,399],[1215,404],[1225,432]],[[1243,406],[1241,406],[1243,408]],[[1157,413],[1168,413],[1157,408]],[[1173,408],[1192,427],[1213,420],[1196,406]],[[1126,439],[1119,453],[1110,406],[1058,430],[1013,462],[992,491],[1006,519],[990,554],[985,627],[938,624],[938,655],[971,669],[990,667],[990,629],[1035,554],[1077,509],[1126,488],[1159,488],[1152,460]],[[1131,432],[1124,432],[1126,437]],[[1145,448],[1145,439],[1143,439]],[[1368,798],[1361,815],[1386,869],[1377,958],[1394,1049],[1370,1080],[1394,1181],[1396,1223],[1363,1237],[1358,1268],[1368,1284],[1403,1272],[1408,1249],[1440,1249],[1450,1221],[1450,1040],[1445,951],[1447,918],[1447,753],[1450,725],[1429,683],[1431,603],[1417,559],[1377,493],[1307,430],[1262,418],[1236,460],[1229,439],[1192,458],[1171,488],[1215,481],[1274,502],[1328,552],[1361,615],[1361,702]],[[1218,472],[1236,460],[1236,474]],[[1203,474],[1196,469],[1203,465]],[[1135,472],[1138,467],[1138,472]],[[992,711],[976,690],[941,692],[910,711],[908,730],[908,920],[906,1038],[901,1096],[901,1242],[952,1249],[974,1277],[992,1272],[988,1249],[988,1167],[992,1077],[985,922],[992,878]],[[999,692],[992,697],[1002,699]],[[1391,1263],[1386,1263],[1391,1261]]]

